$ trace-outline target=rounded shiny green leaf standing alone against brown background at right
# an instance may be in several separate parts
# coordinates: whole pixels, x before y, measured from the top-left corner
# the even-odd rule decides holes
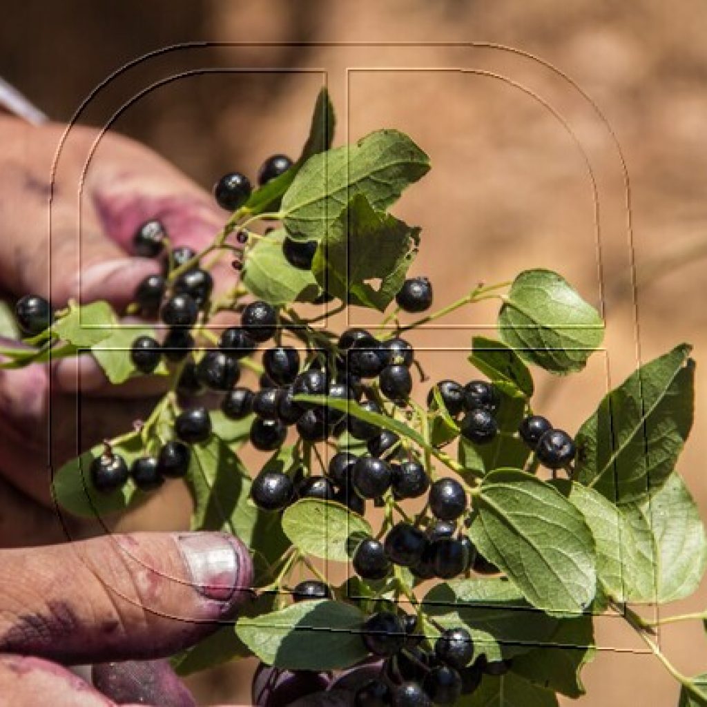
[[[506,344],[551,373],[582,370],[604,339],[604,322],[568,282],[549,270],[526,270],[498,314]]]

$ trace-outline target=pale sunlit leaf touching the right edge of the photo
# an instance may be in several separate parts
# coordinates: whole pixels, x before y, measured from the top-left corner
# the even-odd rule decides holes
[[[661,489],[622,508],[627,522],[645,525],[653,540],[655,576],[635,601],[666,604],[689,597],[707,566],[707,543],[699,509],[684,481],[672,474]]]

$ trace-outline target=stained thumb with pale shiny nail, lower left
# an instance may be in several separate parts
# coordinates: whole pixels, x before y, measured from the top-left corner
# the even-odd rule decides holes
[[[65,664],[171,655],[250,597],[222,533],[138,533],[0,553],[0,652]]]

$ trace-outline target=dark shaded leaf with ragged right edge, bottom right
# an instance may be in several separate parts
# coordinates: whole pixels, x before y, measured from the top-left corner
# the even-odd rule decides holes
[[[533,684],[577,699],[586,692],[582,669],[596,653],[592,617],[581,616],[560,621],[548,645],[514,658],[510,669]]]

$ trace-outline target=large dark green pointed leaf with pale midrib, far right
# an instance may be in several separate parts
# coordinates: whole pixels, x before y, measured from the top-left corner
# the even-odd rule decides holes
[[[641,366],[604,397],[576,437],[575,479],[609,501],[640,501],[674,469],[692,426],[691,347]]]

